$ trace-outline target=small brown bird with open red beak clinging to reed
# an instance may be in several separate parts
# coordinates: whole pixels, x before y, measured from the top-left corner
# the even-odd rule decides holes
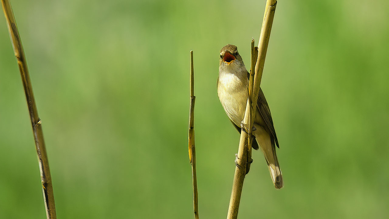
[[[235,45],[227,44],[220,50],[219,77],[217,78],[217,95],[232,124],[241,132],[244,113],[247,104],[247,86],[249,85],[249,72],[243,63]],[[270,176],[274,187],[280,189],[284,186],[282,174],[275,152],[279,148],[277,135],[273,125],[269,105],[262,89],[259,88],[256,116],[253,123],[252,148],[265,155]],[[259,147],[258,147],[259,145]]]

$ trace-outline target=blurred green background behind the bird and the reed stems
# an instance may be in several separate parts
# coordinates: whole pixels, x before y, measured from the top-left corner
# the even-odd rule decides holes
[[[239,135],[217,98],[219,50],[249,66],[261,1],[11,2],[58,218],[193,218],[187,155],[195,61],[200,218],[225,218]],[[261,87],[285,187],[263,155],[240,218],[389,217],[389,2],[282,1]],[[44,218],[25,94],[0,16],[0,217]]]

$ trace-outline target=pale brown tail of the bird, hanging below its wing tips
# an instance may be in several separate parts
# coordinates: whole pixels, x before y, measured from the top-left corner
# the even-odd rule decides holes
[[[276,189],[281,189],[282,186],[284,186],[284,181],[282,180],[277,154],[275,154],[274,140],[267,134],[267,132],[263,131],[260,132],[259,136],[256,136],[256,139],[263,154],[265,155],[266,163],[268,164],[274,187]]]

